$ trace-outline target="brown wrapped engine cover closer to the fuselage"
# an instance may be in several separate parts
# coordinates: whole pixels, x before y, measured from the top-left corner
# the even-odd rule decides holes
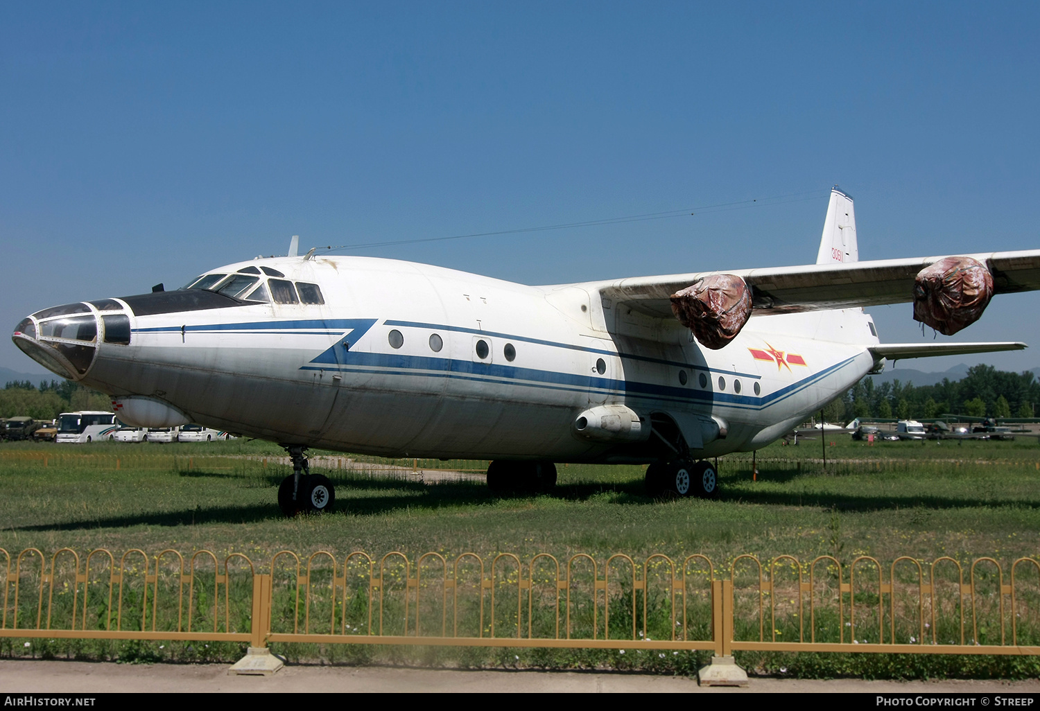
[[[701,345],[718,350],[736,338],[751,317],[751,289],[733,274],[705,276],[672,294],[672,313]]]

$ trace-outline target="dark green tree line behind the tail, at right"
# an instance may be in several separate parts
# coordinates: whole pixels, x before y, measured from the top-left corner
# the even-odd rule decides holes
[[[824,416],[829,421],[854,418],[931,419],[946,414],[970,417],[1036,417],[1040,380],[1030,371],[1012,373],[977,365],[960,380],[942,378],[934,386],[906,385],[900,380],[875,385],[864,377],[837,400]]]

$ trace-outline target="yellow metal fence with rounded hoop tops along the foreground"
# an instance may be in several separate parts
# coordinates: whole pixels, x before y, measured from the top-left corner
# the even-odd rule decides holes
[[[0,549],[0,637],[1040,654],[1040,562]]]

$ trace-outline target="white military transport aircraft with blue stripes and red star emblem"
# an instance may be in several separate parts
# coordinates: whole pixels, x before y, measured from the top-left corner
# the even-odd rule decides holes
[[[1038,287],[1040,251],[859,262],[835,189],[808,266],[532,287],[293,241],[175,291],[44,309],[12,338],[125,423],[281,443],[290,516],[335,500],[308,447],[491,459],[495,491],[551,488],[552,463],[649,464],[651,494],[711,497],[708,457],[783,437],[886,359],[1025,347],[882,344],[863,307],[914,301],[953,333]]]

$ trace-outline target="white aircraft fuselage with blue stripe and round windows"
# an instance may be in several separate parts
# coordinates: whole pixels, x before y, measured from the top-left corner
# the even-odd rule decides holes
[[[358,257],[260,259],[213,273],[251,266],[318,285],[323,304],[188,304],[198,290],[160,292],[71,316],[95,318],[93,354],[85,338],[45,336],[47,317],[23,321],[33,333],[20,326],[16,342],[116,401],[150,398],[211,427],[346,452],[482,459],[651,462],[654,417],[674,422],[699,456],[747,451],[875,367],[867,347],[878,339],[859,309],[755,317],[708,350],[677,321],[580,284],[529,287]],[[121,315],[129,338],[119,340],[129,343],[108,342]],[[63,357],[40,356],[77,343],[72,373],[55,368],[70,370]],[[643,433],[597,439],[575,424],[612,406],[638,415]]]

